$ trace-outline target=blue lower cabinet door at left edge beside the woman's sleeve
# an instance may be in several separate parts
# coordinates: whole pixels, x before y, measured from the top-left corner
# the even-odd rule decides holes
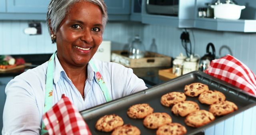
[[[12,78],[13,77],[0,77],[0,132],[2,132],[3,128],[3,111],[6,100],[5,87]]]

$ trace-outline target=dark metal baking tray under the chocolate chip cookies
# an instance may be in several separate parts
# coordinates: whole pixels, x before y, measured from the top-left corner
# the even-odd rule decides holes
[[[238,106],[238,110],[228,115],[216,117],[216,119],[211,123],[209,123],[208,125],[205,125],[199,128],[186,126],[184,123],[185,117],[174,115],[171,112],[170,107],[165,107],[161,105],[160,99],[162,95],[168,92],[172,92],[172,91],[183,92],[185,85],[194,83],[194,82],[204,83],[208,85],[211,90],[216,89],[218,91],[221,91],[226,95],[226,100],[236,103],[236,105]],[[195,101],[200,106],[200,109],[209,110],[209,105],[200,103],[198,101],[198,97],[187,96],[186,100]],[[195,133],[198,133],[203,129],[210,127],[211,125],[214,125],[220,121],[227,119],[228,117],[231,117],[250,107],[253,107],[254,105],[256,105],[256,97],[254,97],[250,93],[247,93],[237,87],[230,85],[229,83],[226,83],[225,81],[212,77],[206,73],[203,73],[202,71],[193,71],[185,75],[182,75],[180,77],[176,77],[166,83],[156,85],[150,89],[145,89],[143,91],[134,93],[132,95],[128,95],[126,97],[122,97],[120,99],[116,99],[108,103],[104,103],[102,105],[98,105],[96,107],[86,109],[84,111],[80,111],[80,113],[84,118],[84,120],[86,121],[86,123],[88,124],[92,132],[92,135],[110,135],[111,134],[111,132],[105,133],[105,132],[97,131],[94,125],[100,117],[107,114],[113,114],[113,113],[122,117],[125,124],[130,123],[138,127],[142,135],[155,135],[156,129],[153,130],[153,129],[147,129],[146,127],[144,127],[143,119],[131,119],[126,115],[127,109],[131,105],[134,105],[137,103],[148,103],[151,107],[154,108],[154,112],[168,113],[172,117],[173,122],[180,123],[186,127],[187,135],[194,135]]]

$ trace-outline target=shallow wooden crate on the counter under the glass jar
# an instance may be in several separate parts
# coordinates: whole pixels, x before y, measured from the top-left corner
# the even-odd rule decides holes
[[[122,64],[126,67],[170,67],[171,58],[154,52],[146,52],[144,58],[131,59],[128,52],[112,51],[111,61]]]

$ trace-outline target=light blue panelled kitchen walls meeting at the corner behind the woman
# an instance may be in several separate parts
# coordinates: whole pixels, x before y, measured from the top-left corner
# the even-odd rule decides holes
[[[49,54],[56,50],[56,45],[51,44],[50,36],[45,22],[42,24],[42,34],[28,36],[24,28],[28,21],[0,21],[0,55],[3,54]],[[203,56],[206,45],[212,42],[216,48],[216,56],[223,45],[230,47],[233,56],[244,62],[256,73],[256,33],[216,32],[209,30],[188,30],[192,46],[196,54]],[[139,34],[146,47],[149,49],[152,39],[156,39],[158,53],[167,56],[185,54],[180,41],[182,29],[160,25],[144,25],[138,22],[108,22],[103,40],[112,41],[112,50],[124,50]],[[194,36],[193,36],[193,34]],[[193,38],[194,37],[194,38]],[[195,42],[195,44],[194,44]],[[222,55],[228,54],[224,50]]]

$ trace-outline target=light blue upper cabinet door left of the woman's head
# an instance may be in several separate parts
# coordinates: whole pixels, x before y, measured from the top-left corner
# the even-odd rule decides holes
[[[8,0],[9,13],[46,13],[50,0]]]

